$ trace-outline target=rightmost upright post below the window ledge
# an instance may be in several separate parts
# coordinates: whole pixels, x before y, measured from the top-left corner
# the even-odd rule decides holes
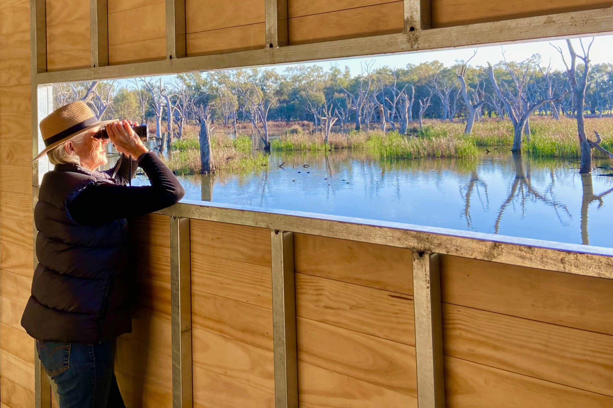
[[[417,406],[444,408],[443,322],[439,256],[413,252]]]

